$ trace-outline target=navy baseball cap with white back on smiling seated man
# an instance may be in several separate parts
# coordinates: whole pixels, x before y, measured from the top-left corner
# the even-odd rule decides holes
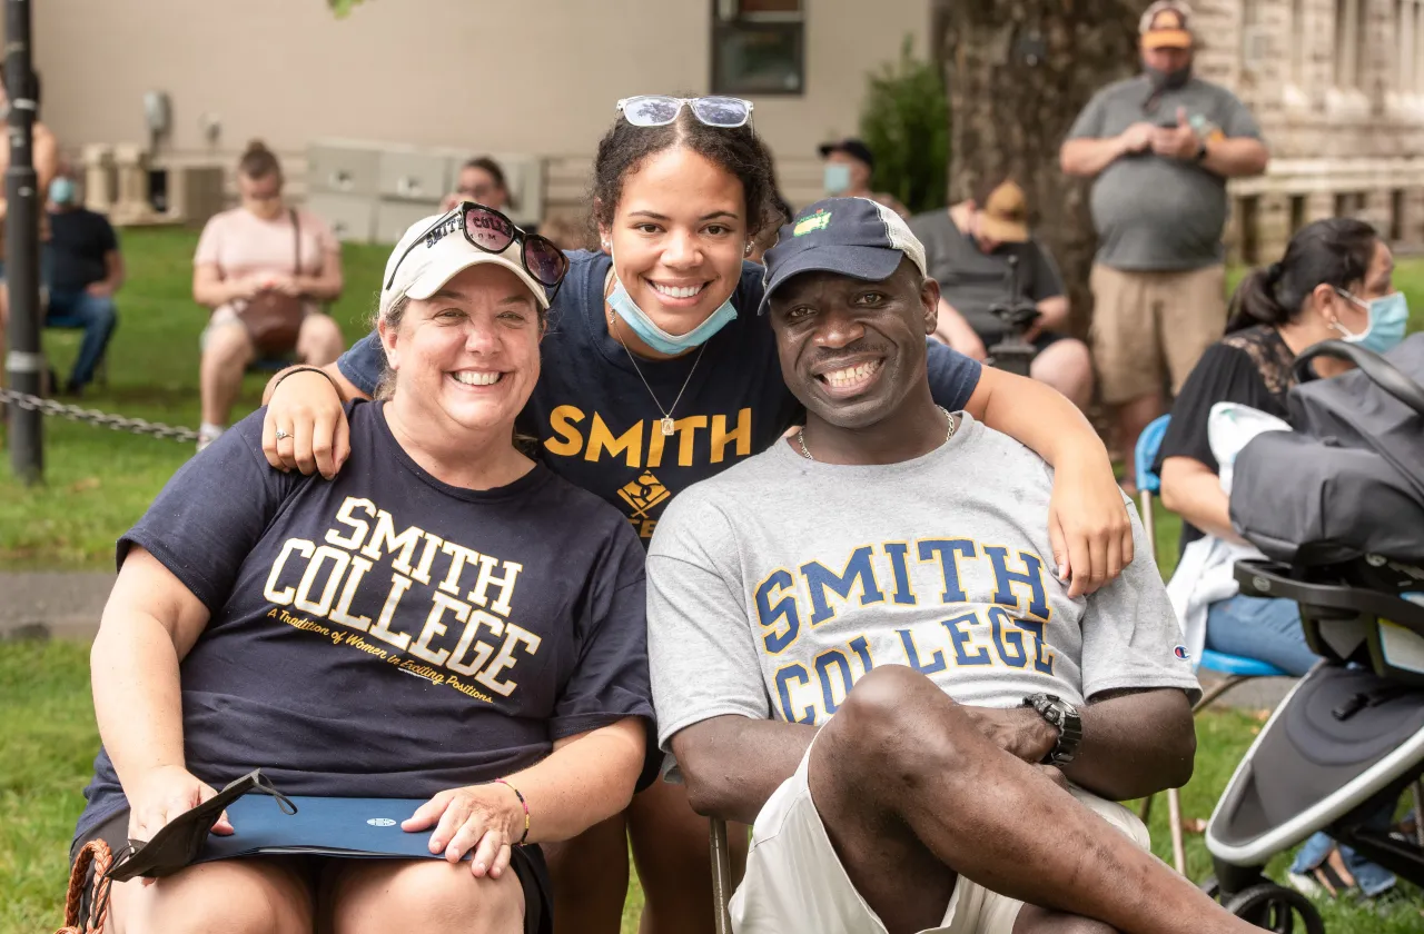
[[[776,246],[766,251],[766,292],[758,315],[770,303],[772,292],[803,272],[839,272],[866,282],[883,282],[909,259],[920,275],[928,275],[924,245],[890,208],[869,198],[826,198],[792,218],[780,229]]]

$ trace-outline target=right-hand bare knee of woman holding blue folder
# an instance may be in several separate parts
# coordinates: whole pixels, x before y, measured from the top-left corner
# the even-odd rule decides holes
[[[476,878],[468,863],[353,864],[332,887],[332,906],[336,934],[514,934],[524,890],[513,866],[500,878]]]

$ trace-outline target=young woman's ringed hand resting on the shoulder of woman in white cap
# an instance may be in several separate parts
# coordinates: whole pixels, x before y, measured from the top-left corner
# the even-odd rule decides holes
[[[278,470],[320,473],[330,480],[352,453],[342,403],[370,396],[346,379],[336,363],[319,369],[320,373],[310,373],[289,366],[268,380],[262,392],[262,404],[268,407],[262,419],[262,453]],[[278,430],[283,433],[281,441]]]

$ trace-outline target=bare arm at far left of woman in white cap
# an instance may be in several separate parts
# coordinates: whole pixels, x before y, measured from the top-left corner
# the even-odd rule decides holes
[[[137,840],[214,794],[184,760],[178,676],[206,625],[202,601],[134,545],[104,607],[90,669],[100,738],[128,797]],[[231,833],[231,826],[224,819],[215,830]]]

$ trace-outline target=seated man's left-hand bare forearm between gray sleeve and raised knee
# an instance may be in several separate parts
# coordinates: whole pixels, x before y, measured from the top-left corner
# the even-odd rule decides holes
[[[815,726],[729,713],[678,730],[672,755],[692,810],[750,824],[796,772],[815,736]]]

